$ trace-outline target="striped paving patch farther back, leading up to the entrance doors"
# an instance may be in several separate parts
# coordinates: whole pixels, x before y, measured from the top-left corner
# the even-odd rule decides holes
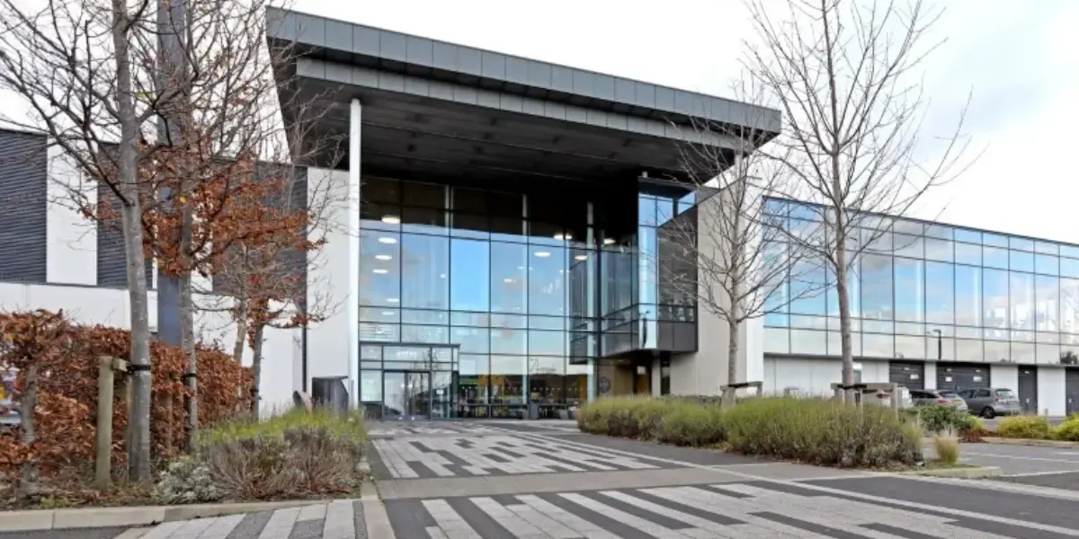
[[[523,473],[655,470],[666,466],[600,447],[584,450],[557,441],[515,436],[405,437],[372,441],[390,478],[420,479]]]

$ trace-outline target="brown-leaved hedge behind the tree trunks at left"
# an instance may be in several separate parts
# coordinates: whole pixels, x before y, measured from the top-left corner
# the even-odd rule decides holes
[[[0,369],[17,370],[14,398],[26,392],[37,372],[35,441],[24,443],[22,428],[0,432],[0,473],[13,478],[28,460],[41,476],[86,473],[94,461],[96,439],[98,358],[126,360],[131,332],[79,324],[63,312],[0,313]],[[183,453],[188,418],[181,379],[187,360],[178,346],[151,343],[153,402],[152,457],[167,461]],[[250,409],[251,373],[221,350],[196,347],[199,361],[199,423],[208,425]],[[118,472],[126,466],[124,442],[127,405],[123,378],[113,388],[112,460]]]

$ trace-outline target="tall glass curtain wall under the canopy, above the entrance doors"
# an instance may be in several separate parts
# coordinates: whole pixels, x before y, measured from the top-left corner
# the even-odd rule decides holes
[[[558,416],[587,400],[598,331],[590,204],[379,178],[360,193],[364,349],[453,347],[450,416],[517,416],[529,402]],[[366,365],[364,401],[382,375]]]

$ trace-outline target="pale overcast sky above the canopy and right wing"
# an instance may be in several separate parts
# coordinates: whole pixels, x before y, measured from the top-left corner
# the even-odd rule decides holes
[[[779,0],[775,0],[781,4]],[[979,161],[931,194],[923,217],[1079,244],[1079,1],[946,0],[925,65],[929,135],[946,135],[969,92]],[[741,0],[295,0],[292,8],[721,96],[754,38]],[[781,5],[780,5],[781,8]],[[929,39],[929,38],[927,38]]]

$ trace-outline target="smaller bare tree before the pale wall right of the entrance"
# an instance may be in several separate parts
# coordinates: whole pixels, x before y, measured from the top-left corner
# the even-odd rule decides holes
[[[763,102],[752,83],[734,89],[739,100]],[[680,147],[682,172],[697,191],[696,206],[658,230],[660,289],[694,298],[698,308],[726,327],[727,385],[746,382],[739,379],[737,361],[746,321],[823,292],[823,284],[788,289],[811,268],[802,264],[802,251],[787,241],[787,223],[773,211],[773,198],[790,191],[792,176],[774,154],[755,152],[776,136],[779,114],[757,110],[745,126],[692,119],[694,140],[734,140],[736,148]],[[734,393],[724,391],[724,400],[733,402]]]

